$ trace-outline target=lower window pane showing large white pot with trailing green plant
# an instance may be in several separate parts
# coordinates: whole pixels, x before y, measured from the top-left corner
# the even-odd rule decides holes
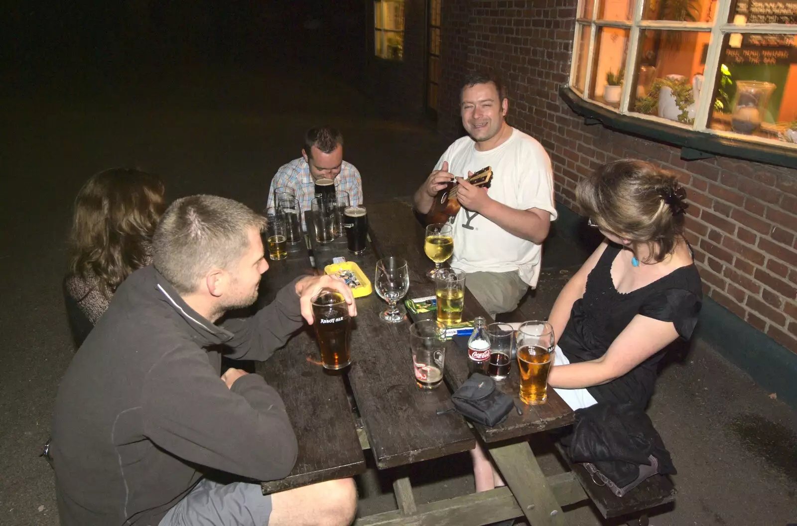
[[[703,86],[711,33],[646,29],[639,33],[639,65],[629,108],[692,124]]]

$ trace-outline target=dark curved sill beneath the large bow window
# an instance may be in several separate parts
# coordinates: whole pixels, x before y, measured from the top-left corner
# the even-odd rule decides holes
[[[636,135],[658,143],[681,147],[681,159],[709,159],[717,155],[774,164],[779,167],[797,168],[797,152],[790,147],[776,144],[753,143],[744,139],[730,139],[701,131],[685,130],[640,119],[620,115],[607,108],[583,100],[569,86],[559,88],[559,96],[573,110],[583,116],[585,124],[603,124],[604,128]]]

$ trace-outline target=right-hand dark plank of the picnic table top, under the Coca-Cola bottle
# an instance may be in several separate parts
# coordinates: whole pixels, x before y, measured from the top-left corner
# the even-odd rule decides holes
[[[433,263],[423,253],[424,230],[418,224],[410,205],[393,201],[368,208],[368,222],[375,251],[401,256],[410,262],[410,297],[434,295],[434,285],[426,277],[426,270]],[[465,312],[463,318],[473,320],[484,316],[492,321],[485,309],[465,290]],[[456,390],[468,378],[467,353],[454,351],[446,355],[446,382]],[[520,377],[517,367],[512,367],[508,379],[498,383],[499,389],[520,400]],[[520,402],[524,413],[512,411],[508,417],[495,427],[475,424],[479,435],[485,442],[498,442],[509,438],[521,438],[539,431],[550,430],[571,424],[574,414],[556,391],[550,390],[548,402],[541,406],[527,406]]]

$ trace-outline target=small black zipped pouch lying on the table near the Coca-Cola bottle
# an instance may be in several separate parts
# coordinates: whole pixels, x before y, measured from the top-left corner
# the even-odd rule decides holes
[[[474,373],[451,395],[457,413],[483,426],[493,427],[501,422],[514,403],[512,397],[496,389],[489,376]]]

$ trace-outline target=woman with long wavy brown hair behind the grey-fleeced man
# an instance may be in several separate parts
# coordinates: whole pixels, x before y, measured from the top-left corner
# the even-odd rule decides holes
[[[78,347],[116,287],[151,263],[150,240],[165,209],[163,194],[159,176],[128,168],[101,171],[77,194],[64,298]]]

